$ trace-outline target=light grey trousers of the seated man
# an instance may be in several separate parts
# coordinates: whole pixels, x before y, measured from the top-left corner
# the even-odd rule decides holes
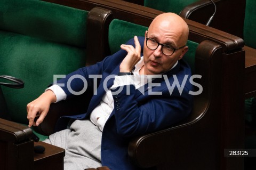
[[[101,166],[102,132],[90,120],[75,120],[69,129],[54,133],[43,142],[65,149],[64,169]]]

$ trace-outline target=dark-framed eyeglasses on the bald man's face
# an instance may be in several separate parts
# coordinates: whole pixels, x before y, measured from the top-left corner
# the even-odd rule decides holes
[[[174,48],[170,45],[167,44],[161,44],[158,43],[155,39],[153,38],[148,38],[148,33],[146,33],[146,45],[150,50],[156,50],[159,45],[162,45],[161,51],[164,55],[171,56],[176,50],[179,50],[180,48],[185,47],[186,45],[179,47],[179,48]]]

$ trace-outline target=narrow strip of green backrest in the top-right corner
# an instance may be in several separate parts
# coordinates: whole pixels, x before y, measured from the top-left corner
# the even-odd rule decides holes
[[[244,42],[245,45],[256,48],[256,1],[246,0],[244,18]]]

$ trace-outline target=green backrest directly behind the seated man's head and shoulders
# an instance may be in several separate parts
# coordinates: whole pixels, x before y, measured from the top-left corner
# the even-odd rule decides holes
[[[126,43],[134,37],[145,36],[145,31],[148,27],[137,25],[131,22],[114,19],[109,25],[109,48],[111,54],[120,50],[120,45]],[[187,46],[189,47],[188,52],[183,56],[183,59],[189,64],[191,71],[195,72],[195,53],[198,43],[188,41]]]

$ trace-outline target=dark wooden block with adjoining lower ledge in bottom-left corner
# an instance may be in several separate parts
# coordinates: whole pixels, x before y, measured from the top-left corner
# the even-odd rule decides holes
[[[65,150],[34,142],[30,139],[32,136],[33,131],[28,126],[0,118],[1,169],[63,169]],[[34,145],[43,145],[45,153],[34,153]]]

